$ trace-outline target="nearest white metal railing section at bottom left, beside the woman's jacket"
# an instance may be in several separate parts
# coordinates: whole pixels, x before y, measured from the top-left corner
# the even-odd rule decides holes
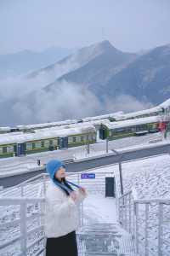
[[[0,212],[1,256],[43,255],[44,199],[2,198]]]

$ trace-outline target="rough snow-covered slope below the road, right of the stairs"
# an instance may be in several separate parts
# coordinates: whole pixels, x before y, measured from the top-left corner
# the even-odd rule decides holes
[[[124,193],[134,188],[139,199],[169,199],[169,170],[170,154],[122,163]],[[118,165],[100,167],[95,172],[116,172],[119,179]]]

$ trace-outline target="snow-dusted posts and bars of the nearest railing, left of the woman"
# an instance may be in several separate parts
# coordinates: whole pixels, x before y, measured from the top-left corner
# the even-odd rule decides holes
[[[5,241],[2,245],[0,245],[0,249],[4,249],[5,247],[8,247],[10,245],[12,245],[14,242],[18,243],[18,246],[21,249],[21,253],[19,255],[22,256],[26,256],[27,255],[27,251],[31,248],[32,246],[38,246],[38,242],[42,241],[43,239],[45,239],[44,236],[42,236],[42,232],[43,232],[43,224],[42,224],[42,218],[44,216],[44,207],[42,204],[44,204],[45,202],[45,198],[44,197],[38,197],[38,198],[30,198],[30,197],[20,197],[20,198],[1,198],[0,199],[0,207],[11,207],[11,206],[20,206],[20,208],[17,210],[18,214],[20,214],[20,218],[16,219],[11,219],[11,221],[9,222],[4,222],[4,223],[0,223],[0,227],[4,228],[7,225],[10,225],[10,229],[14,229],[14,224],[17,224],[17,233],[18,231],[20,232],[20,236],[15,236],[13,239],[10,239],[9,241]],[[31,213],[30,213],[30,209],[29,209],[29,216],[26,216],[26,212],[27,212],[27,207],[30,208],[31,206]],[[35,211],[35,207],[36,207],[36,211]],[[7,208],[8,210],[8,208]],[[11,211],[11,213],[10,213]],[[11,214],[11,215],[10,215]],[[18,215],[17,214],[17,215]],[[12,209],[8,210],[8,216],[10,218],[10,216],[13,218],[12,216]],[[31,226],[31,230],[28,230],[27,227],[27,223],[31,224],[31,220],[33,218],[36,218],[37,220],[37,225],[35,227],[32,228]],[[18,230],[19,229],[19,230]],[[37,234],[37,239],[35,241],[31,241],[31,243],[28,243],[27,237],[33,234]],[[39,237],[38,237],[39,236]],[[36,247],[37,247],[36,246]],[[38,247],[37,247],[38,248]],[[41,246],[41,248],[38,250],[38,252],[35,255],[39,255],[40,252],[44,251],[44,246]]]

